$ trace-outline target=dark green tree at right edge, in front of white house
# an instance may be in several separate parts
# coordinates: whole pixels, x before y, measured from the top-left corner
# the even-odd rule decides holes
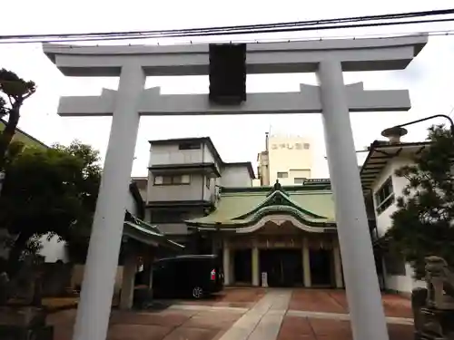
[[[432,126],[428,141],[414,165],[396,171],[408,185],[397,199],[398,209],[385,235],[391,251],[410,262],[418,279],[424,277],[424,257],[443,257],[454,265],[454,136],[442,125]]]

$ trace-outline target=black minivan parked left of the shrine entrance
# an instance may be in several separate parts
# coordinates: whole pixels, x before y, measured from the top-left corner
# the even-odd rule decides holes
[[[153,264],[153,296],[202,298],[222,288],[222,266],[216,255],[167,257]]]

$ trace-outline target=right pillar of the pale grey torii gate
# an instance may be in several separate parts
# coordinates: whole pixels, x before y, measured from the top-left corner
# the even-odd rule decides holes
[[[321,62],[318,76],[353,339],[388,339],[341,62]]]

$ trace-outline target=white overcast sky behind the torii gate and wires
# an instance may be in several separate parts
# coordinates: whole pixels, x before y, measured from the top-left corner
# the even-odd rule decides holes
[[[127,30],[154,30],[219,26],[234,24],[266,24],[334,18],[353,15],[433,10],[453,7],[449,0],[420,1],[381,0],[374,2],[319,0],[315,2],[281,0],[230,0],[213,2],[139,1],[113,2],[79,0],[55,5],[54,1],[24,0],[2,4],[0,34],[88,33]],[[6,14],[6,15],[5,15]],[[11,14],[8,16],[8,14]],[[377,33],[421,32],[454,29],[454,24],[419,24],[354,31],[324,31],[286,34],[279,37],[301,38],[327,35],[362,35]],[[243,37],[271,39],[275,36]],[[216,38],[219,39],[219,38]],[[234,39],[234,38],[229,38]],[[196,39],[192,39],[194,41]],[[166,44],[175,42],[166,42]],[[110,43],[120,44],[120,43]],[[156,44],[134,41],[132,44]],[[161,42],[163,44],[163,42]],[[410,112],[365,112],[351,114],[357,149],[363,149],[380,131],[392,125],[412,121],[435,113],[451,111],[453,100],[454,36],[430,37],[429,44],[404,71],[345,73],[346,83],[364,82],[366,89],[409,89]],[[34,80],[38,89],[26,102],[19,127],[41,141],[68,144],[84,141],[102,152],[109,137],[109,118],[60,118],[56,114],[61,95],[99,94],[103,87],[115,89],[118,81],[111,78],[65,78],[42,53],[40,44],[0,44],[0,67]],[[314,74],[250,75],[248,92],[298,91],[299,83],[315,83]],[[207,77],[149,78],[146,85],[162,86],[163,93],[208,92]],[[409,128],[403,141],[419,141],[426,137],[430,121]],[[146,175],[149,158],[147,141],[167,138],[210,136],[222,159],[255,162],[264,147],[265,131],[306,135],[314,139],[317,149],[314,177],[328,177],[324,160],[324,141],[319,114],[213,116],[213,117],[144,117],[141,121],[133,166],[133,176]],[[361,162],[365,154],[359,155]]]

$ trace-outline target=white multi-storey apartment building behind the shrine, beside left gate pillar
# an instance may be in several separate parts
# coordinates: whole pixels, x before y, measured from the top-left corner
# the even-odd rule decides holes
[[[223,161],[209,137],[150,141],[148,170],[145,220],[193,247],[183,220],[215,209],[219,188],[252,187],[255,179],[250,161]]]

